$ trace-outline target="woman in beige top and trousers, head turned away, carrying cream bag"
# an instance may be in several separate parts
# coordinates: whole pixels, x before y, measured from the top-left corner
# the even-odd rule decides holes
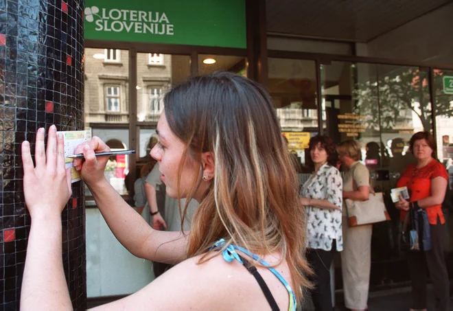
[[[360,146],[355,140],[342,141],[336,148],[345,170],[343,175],[343,199],[364,201],[370,194],[370,174],[360,163]],[[371,270],[371,234],[373,224],[351,227],[347,207],[342,207],[343,251],[341,270],[345,306],[352,311],[367,310]]]

